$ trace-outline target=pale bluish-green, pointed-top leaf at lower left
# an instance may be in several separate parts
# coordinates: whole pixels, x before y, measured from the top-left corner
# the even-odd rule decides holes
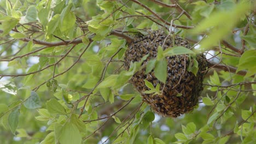
[[[28,99],[25,101],[24,106],[27,109],[37,109],[41,107],[41,101],[38,94],[34,91],[31,91],[30,97],[28,97]]]

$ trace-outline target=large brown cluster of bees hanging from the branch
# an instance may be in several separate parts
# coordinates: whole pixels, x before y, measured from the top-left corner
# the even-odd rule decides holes
[[[187,40],[175,35],[168,37],[162,31],[149,31],[147,35],[137,35],[129,44],[125,53],[124,68],[128,70],[131,62],[138,62],[147,54],[146,61],[142,65],[147,65],[150,59],[156,58],[158,46],[164,46],[165,50],[168,47],[184,46],[190,48]],[[173,40],[173,38],[175,38]],[[165,40],[166,39],[166,40]],[[176,55],[166,57],[167,59],[167,80],[164,83],[156,79],[153,70],[145,74],[146,68],[139,70],[132,76],[130,83],[135,89],[141,93],[143,101],[148,103],[152,109],[161,116],[178,117],[184,113],[188,113],[194,109],[199,101],[199,96],[202,91],[202,81],[206,70],[206,58],[203,54],[196,56],[199,70],[196,76],[187,70],[188,67],[193,67],[193,58],[188,55]],[[144,79],[151,82],[154,87],[160,83],[161,94],[147,94],[145,91],[149,88],[145,85]]]

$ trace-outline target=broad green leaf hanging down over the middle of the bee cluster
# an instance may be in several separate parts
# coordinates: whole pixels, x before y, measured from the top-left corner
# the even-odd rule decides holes
[[[154,69],[155,77],[165,83],[167,79],[167,62],[166,59],[162,59],[160,61],[156,61],[155,69]]]

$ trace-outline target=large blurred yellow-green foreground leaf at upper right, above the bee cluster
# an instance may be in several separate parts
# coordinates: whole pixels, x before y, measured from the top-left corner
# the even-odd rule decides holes
[[[218,41],[229,34],[232,28],[236,26],[236,23],[249,10],[249,3],[241,2],[230,10],[220,10],[203,20],[193,31],[194,33],[200,33],[208,30],[208,28],[212,28],[208,37],[200,43],[202,51],[210,49],[213,45],[217,45]],[[223,23],[223,21],[225,22]]]

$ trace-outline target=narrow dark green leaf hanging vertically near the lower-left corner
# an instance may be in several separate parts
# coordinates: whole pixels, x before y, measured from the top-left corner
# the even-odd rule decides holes
[[[20,108],[14,109],[8,117],[8,124],[11,132],[15,135],[19,123]]]

